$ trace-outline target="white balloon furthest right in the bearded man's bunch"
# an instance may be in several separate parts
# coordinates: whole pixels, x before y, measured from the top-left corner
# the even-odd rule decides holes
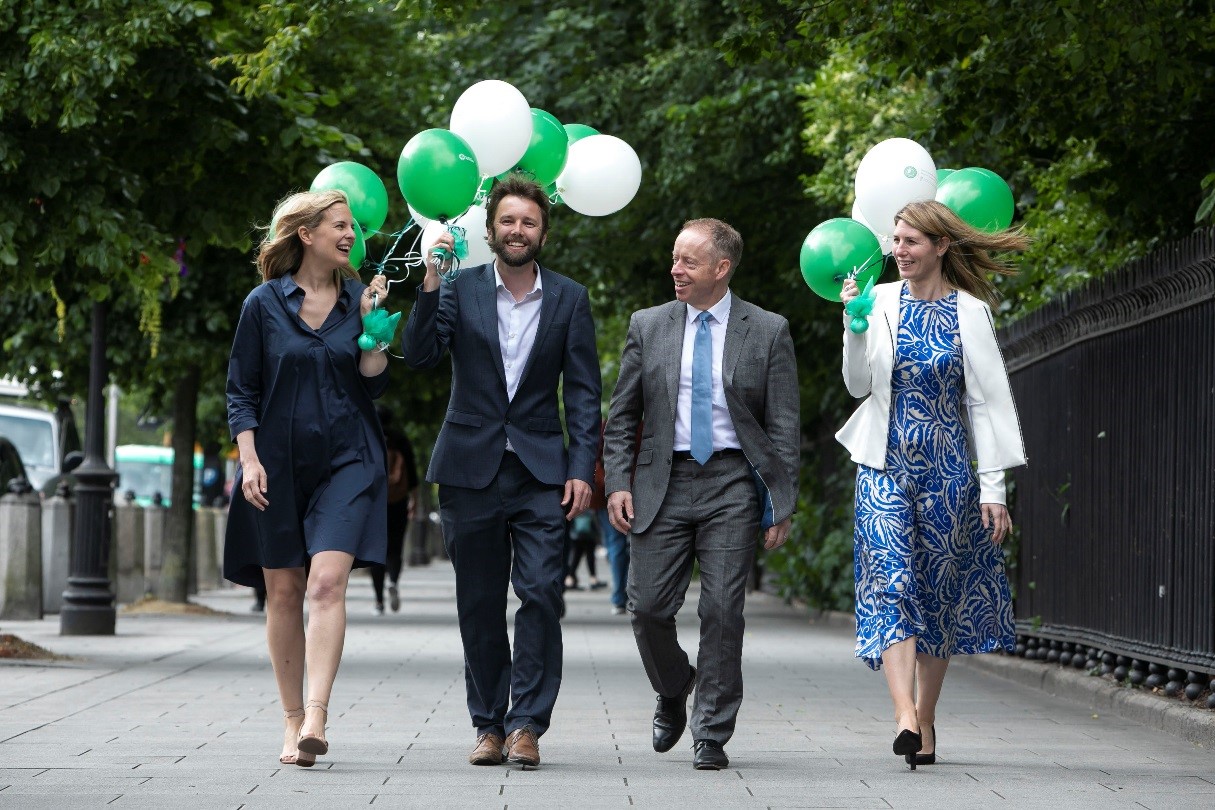
[[[570,145],[565,169],[556,179],[561,202],[578,214],[615,214],[642,187],[642,160],[614,135],[589,135]]]

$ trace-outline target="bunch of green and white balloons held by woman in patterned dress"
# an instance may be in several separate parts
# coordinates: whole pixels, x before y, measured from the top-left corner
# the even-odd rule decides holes
[[[802,277],[829,301],[840,300],[847,278],[866,290],[871,287],[881,274],[882,256],[893,249],[894,216],[908,203],[936,199],[981,231],[1002,231],[1012,223],[1012,189],[1000,175],[977,166],[937,169],[932,155],[909,138],[887,138],[866,152],[854,191],[852,217],[818,225],[802,244]],[[852,330],[864,332],[868,312],[849,315]]]

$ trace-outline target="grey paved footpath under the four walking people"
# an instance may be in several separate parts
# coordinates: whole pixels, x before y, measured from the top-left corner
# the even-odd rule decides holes
[[[264,619],[248,593],[197,599],[222,614],[119,614],[111,638],[61,638],[56,617],[0,622],[73,656],[0,664],[0,806],[1215,806],[1210,748],[961,662],[937,720],[938,764],[909,772],[891,753],[883,679],[852,658],[850,630],[759,594],[747,602],[728,770],[693,770],[686,736],[651,749],[654,695],[627,617],[609,613],[601,590],[570,594],[541,767],[475,767],[443,562],[406,572],[399,614],[373,616],[369,580],[352,580],[330,754],[281,766]]]

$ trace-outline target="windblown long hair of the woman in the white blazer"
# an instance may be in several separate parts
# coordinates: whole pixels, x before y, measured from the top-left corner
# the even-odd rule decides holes
[[[966,290],[977,299],[983,299],[989,306],[1000,301],[1000,290],[988,278],[988,273],[1015,276],[1011,266],[991,257],[991,250],[1024,250],[1029,238],[1019,230],[988,233],[973,228],[962,221],[957,214],[944,203],[934,199],[908,203],[894,222],[903,220],[920,231],[933,243],[940,237],[949,237],[949,248],[940,260],[940,272],[945,282],[960,290]]]

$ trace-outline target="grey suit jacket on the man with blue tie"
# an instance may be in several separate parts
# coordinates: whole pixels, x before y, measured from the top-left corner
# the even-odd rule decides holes
[[[671,480],[686,317],[688,305],[671,301],[634,312],[628,324],[604,430],[604,469],[609,494],[621,489],[633,494],[633,532],[649,528]],[[722,384],[739,443],[768,487],[779,523],[797,505],[801,464],[797,364],[789,322],[735,295]],[[638,424],[644,426],[634,465]]]

